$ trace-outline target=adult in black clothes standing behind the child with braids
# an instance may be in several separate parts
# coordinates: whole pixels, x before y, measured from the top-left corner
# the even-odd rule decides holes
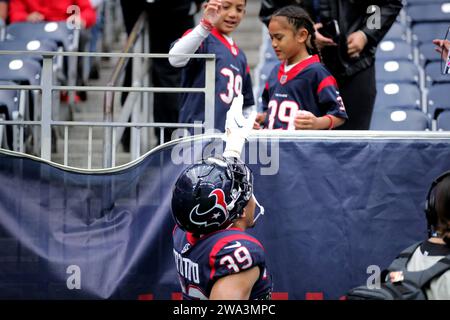
[[[286,0],[263,1],[260,17],[267,22]],[[394,23],[402,8],[401,0],[291,0],[307,9],[316,22],[316,43],[323,62],[335,76],[349,120],[339,129],[367,130],[370,126],[376,97],[375,51]],[[367,13],[372,5],[380,11]],[[372,15],[380,14],[380,25],[368,23]],[[335,43],[324,37],[319,29],[333,20],[337,21],[340,35]],[[364,97],[364,99],[361,99]]]

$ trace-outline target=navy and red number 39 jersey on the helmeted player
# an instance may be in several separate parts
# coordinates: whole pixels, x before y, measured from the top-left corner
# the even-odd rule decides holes
[[[259,267],[250,299],[270,299],[269,275],[261,243],[238,228],[219,230],[201,238],[175,227],[173,254],[183,299],[209,299],[214,283],[225,276]]]

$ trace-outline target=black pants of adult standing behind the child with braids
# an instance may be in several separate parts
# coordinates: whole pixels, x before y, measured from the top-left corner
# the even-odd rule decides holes
[[[352,77],[336,80],[348,115],[348,120],[336,129],[369,130],[377,95],[375,66],[372,65]]]

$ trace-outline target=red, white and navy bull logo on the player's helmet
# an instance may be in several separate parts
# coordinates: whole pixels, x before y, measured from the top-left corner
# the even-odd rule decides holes
[[[208,195],[208,198],[212,196],[215,197],[215,203],[213,207],[204,212],[199,212],[198,209],[200,207],[200,204],[198,204],[191,210],[189,218],[192,223],[204,227],[209,227],[214,224],[220,226],[228,219],[229,214],[223,190],[214,189]]]

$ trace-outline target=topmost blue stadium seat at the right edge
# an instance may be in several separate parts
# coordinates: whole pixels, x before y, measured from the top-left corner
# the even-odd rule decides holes
[[[406,8],[411,22],[448,22],[450,20],[450,2],[411,5]]]

